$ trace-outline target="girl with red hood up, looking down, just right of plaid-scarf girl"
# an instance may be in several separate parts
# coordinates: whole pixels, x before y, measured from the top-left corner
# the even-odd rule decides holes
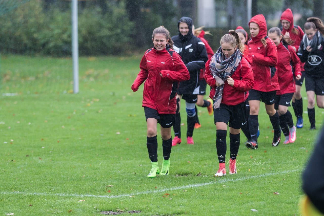
[[[272,146],[280,142],[281,129],[279,115],[274,109],[276,91],[279,90],[277,66],[277,48],[273,41],[267,37],[267,23],[262,14],[251,18],[249,22],[251,39],[248,42],[249,58],[254,74],[254,86],[249,91],[249,129],[251,141],[246,146],[251,149],[258,148],[258,126],[260,101],[265,103],[265,109],[272,123],[274,136]]]

